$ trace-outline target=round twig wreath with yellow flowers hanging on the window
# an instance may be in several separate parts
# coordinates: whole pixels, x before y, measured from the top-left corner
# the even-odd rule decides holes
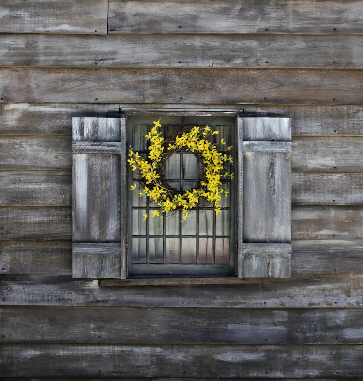
[[[153,122],[154,127],[145,135],[150,141],[148,147],[149,155],[143,158],[138,152],[134,152],[132,148],[129,150],[127,161],[133,171],[140,171],[140,179],[144,188],[139,190],[139,196],[148,196],[160,208],[160,210],[152,210],[152,216],[160,216],[160,212],[183,211],[183,219],[188,218],[188,210],[197,204],[205,206],[212,203],[216,215],[221,212],[222,196],[227,197],[229,191],[223,188],[222,178],[233,179],[233,173],[224,169],[226,161],[233,162],[231,155],[224,154],[217,150],[217,146],[210,142],[207,138],[218,134],[219,131],[212,131],[207,125],[204,128],[194,126],[181,130],[175,138],[164,140],[164,137],[158,130],[161,127],[160,120]],[[222,138],[221,145],[226,145]],[[233,147],[227,147],[226,151],[230,151]],[[165,178],[166,160],[176,153],[192,153],[202,165],[200,180],[197,187],[180,192],[171,187]],[[136,189],[136,184],[131,186],[132,190]],[[148,217],[144,214],[144,219]]]

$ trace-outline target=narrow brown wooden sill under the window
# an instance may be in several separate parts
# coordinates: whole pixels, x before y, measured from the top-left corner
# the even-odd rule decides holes
[[[264,278],[129,278],[101,279],[100,286],[196,286],[196,285],[241,285],[262,283]]]

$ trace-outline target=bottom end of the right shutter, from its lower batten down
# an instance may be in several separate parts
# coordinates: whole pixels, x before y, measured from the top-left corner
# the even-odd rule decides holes
[[[291,276],[290,243],[243,243],[243,275],[249,278]]]

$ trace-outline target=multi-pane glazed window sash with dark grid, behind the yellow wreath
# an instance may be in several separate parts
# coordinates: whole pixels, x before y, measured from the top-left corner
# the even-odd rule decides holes
[[[145,135],[151,130],[152,120],[128,119],[128,145],[140,154],[148,152]],[[230,145],[235,142],[234,118],[173,117],[162,118],[161,123],[165,138],[188,125],[208,124],[219,131],[218,135],[213,135],[213,143],[218,144],[221,138]],[[170,159],[166,168],[167,182],[181,191],[195,187],[201,171],[197,158],[190,153],[177,153]],[[227,170],[234,172],[233,167]],[[129,185],[136,183],[137,187],[142,186],[137,182],[136,171],[129,169],[128,175]],[[182,219],[181,211],[152,217],[152,210],[158,206],[132,191],[129,203],[129,219],[132,221],[128,232],[129,275],[234,275],[234,182],[223,180],[223,184],[230,194],[223,197],[222,212],[216,216],[212,205],[198,205],[189,212],[190,217],[186,221]],[[144,219],[144,214],[149,217]]]

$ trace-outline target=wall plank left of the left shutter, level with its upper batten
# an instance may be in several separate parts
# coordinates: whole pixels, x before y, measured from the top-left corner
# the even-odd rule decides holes
[[[3,136],[0,138],[2,170],[72,168],[71,136]]]

